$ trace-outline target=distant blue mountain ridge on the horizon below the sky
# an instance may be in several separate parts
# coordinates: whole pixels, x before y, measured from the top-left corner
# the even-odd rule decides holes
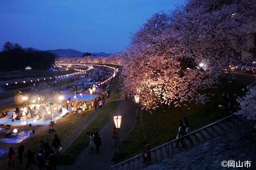
[[[86,53],[86,52],[81,52],[74,49],[54,49],[54,50],[46,50],[46,51],[49,51],[50,53],[57,55],[57,57],[64,57],[64,58],[83,57],[83,54]],[[100,53],[91,53],[91,54],[96,57],[97,56],[108,57],[112,53],[100,52]]]

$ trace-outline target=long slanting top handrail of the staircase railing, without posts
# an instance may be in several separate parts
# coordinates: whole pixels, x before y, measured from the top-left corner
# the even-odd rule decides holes
[[[192,132],[190,132],[190,133],[188,133],[188,134],[186,134],[186,135],[184,135],[184,136],[182,136],[182,137],[179,137],[178,139],[182,139],[182,138],[184,138],[184,137],[187,137],[187,136],[189,136],[189,135],[192,135],[192,134],[194,134],[194,133],[197,133],[198,131],[201,131],[202,129],[205,129],[205,128],[207,128],[207,127],[210,127],[210,126],[212,126],[212,125],[214,125],[214,124],[216,124],[216,123],[219,123],[219,122],[221,122],[221,121],[224,121],[225,119],[227,119],[227,118],[229,118],[229,117],[233,117],[233,116],[236,116],[236,115],[235,115],[235,114],[232,114],[232,115],[229,115],[229,116],[227,116],[227,117],[224,117],[224,118],[222,118],[222,119],[220,119],[220,120],[218,120],[218,121],[215,121],[215,122],[213,122],[213,123],[211,123],[211,124],[209,124],[209,125],[206,125],[206,126],[204,126],[204,127],[201,127],[201,128],[199,128],[199,129],[197,129],[197,130],[195,130],[195,131],[192,131]],[[148,152],[153,151],[153,150],[156,150],[156,149],[158,149],[158,148],[161,148],[161,147],[163,147],[163,146],[165,146],[165,145],[171,144],[171,143],[177,141],[178,139],[174,139],[174,140],[172,140],[172,141],[169,141],[169,142],[167,142],[167,143],[164,143],[164,144],[162,144],[162,145],[159,145],[158,147],[155,147],[155,148],[153,148],[153,149],[148,150]],[[122,161],[122,162],[119,162],[118,164],[112,165],[112,166],[110,166],[110,169],[114,168],[115,166],[119,166],[119,165],[121,165],[121,164],[124,164],[125,162],[128,162],[128,161],[130,161],[130,160],[132,160],[132,159],[135,159],[135,158],[137,158],[137,157],[140,157],[140,156],[142,156],[142,155],[143,155],[143,154],[138,154],[138,155],[136,155],[136,156],[133,156],[132,158],[129,158],[129,159],[127,159],[127,160],[124,160],[124,161]]]

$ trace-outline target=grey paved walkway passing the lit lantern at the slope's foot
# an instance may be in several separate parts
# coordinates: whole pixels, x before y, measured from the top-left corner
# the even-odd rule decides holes
[[[122,115],[122,129],[120,129],[120,140],[125,139],[130,132],[136,119],[136,107],[132,100],[121,101],[114,115]],[[114,127],[113,120],[111,119],[105,127],[100,131],[102,137],[102,146],[100,152],[90,153],[90,146],[87,146],[77,158],[76,163],[70,166],[58,167],[61,170],[73,170],[73,169],[86,169],[86,170],[108,170],[111,164],[112,154],[118,152],[118,148],[112,149],[112,129]],[[88,139],[89,140],[89,136]]]

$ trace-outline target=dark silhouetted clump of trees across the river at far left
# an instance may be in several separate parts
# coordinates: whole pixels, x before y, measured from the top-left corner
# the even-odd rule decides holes
[[[19,70],[31,66],[33,69],[47,69],[55,61],[55,55],[48,51],[22,48],[18,43],[6,42],[0,52],[1,70]]]

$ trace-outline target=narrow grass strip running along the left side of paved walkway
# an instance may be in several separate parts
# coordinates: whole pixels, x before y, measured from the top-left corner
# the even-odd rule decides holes
[[[75,141],[58,157],[61,165],[73,164],[82,150],[89,144],[89,136],[93,132],[99,132],[109,121],[112,121],[112,112],[117,109],[120,101],[108,102],[100,113],[94,117]]]

